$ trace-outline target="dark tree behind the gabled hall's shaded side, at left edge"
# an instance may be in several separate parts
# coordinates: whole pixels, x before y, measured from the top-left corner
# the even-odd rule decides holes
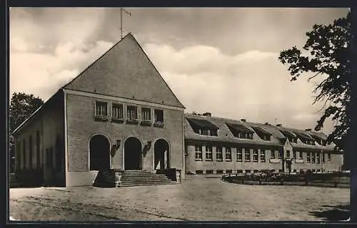
[[[9,109],[9,151],[11,158],[14,157],[14,151],[12,150],[14,146],[14,137],[12,132],[43,104],[44,100],[39,97],[35,98],[33,94],[12,94]],[[13,165],[13,162],[11,162],[11,170],[14,169]]]

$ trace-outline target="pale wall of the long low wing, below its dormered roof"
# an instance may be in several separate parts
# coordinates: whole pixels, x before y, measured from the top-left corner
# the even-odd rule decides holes
[[[202,160],[196,160],[195,157],[195,145],[201,145],[202,146]],[[206,152],[206,145],[212,145],[212,142],[187,142],[186,140],[186,146],[185,146],[185,157],[186,157],[186,172],[192,172],[192,173],[201,173],[203,174],[207,173],[206,171],[208,170],[213,170],[213,173],[216,173],[217,170],[223,170],[223,173],[227,172],[226,170],[232,170],[233,173],[239,171],[245,172],[246,170],[275,170],[278,172],[279,170],[283,169],[283,163],[281,159],[278,159],[278,151],[283,151],[284,155],[283,157],[286,157],[287,150],[290,151],[290,157],[293,155],[293,147],[287,145],[284,147],[263,147],[263,146],[257,146],[257,145],[221,145],[223,147],[223,160],[222,161],[217,161],[216,160],[216,145],[212,145],[212,152],[213,152],[213,160],[212,161],[207,161],[205,157],[205,152]],[[232,152],[232,160],[231,161],[226,161],[225,160],[225,151],[226,147],[231,147],[231,152]],[[256,149],[261,149],[261,150],[266,150],[266,160],[265,162],[261,161],[261,157],[258,155],[258,162],[253,162],[252,158],[252,153],[251,153],[251,161],[246,162],[244,154],[242,155],[242,161],[238,162],[236,160],[236,148],[239,147],[245,147],[245,148],[256,148]],[[271,157],[271,150],[274,151],[275,153],[275,159]],[[298,151],[298,150],[296,150]],[[300,151],[299,151],[300,152]],[[322,162],[322,157],[321,157],[321,162],[320,164],[318,163],[307,163],[306,162],[306,151],[303,152],[303,162],[296,162],[295,159],[292,159],[292,164],[291,164],[291,172],[295,171],[299,172],[300,170],[325,170],[325,171],[338,171],[341,170],[341,165],[342,165],[342,160],[343,160],[343,155],[337,154],[336,152],[331,152],[331,160],[328,160],[328,155],[327,153],[325,154],[325,162]],[[316,151],[315,151],[316,152]],[[284,164],[286,165],[286,164]],[[288,172],[288,169],[285,167],[285,172]],[[228,171],[229,172],[229,171]]]

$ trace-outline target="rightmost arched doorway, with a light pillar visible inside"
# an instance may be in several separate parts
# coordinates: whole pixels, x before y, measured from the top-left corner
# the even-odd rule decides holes
[[[170,167],[169,142],[159,139],[154,145],[154,167],[155,170],[168,169]]]

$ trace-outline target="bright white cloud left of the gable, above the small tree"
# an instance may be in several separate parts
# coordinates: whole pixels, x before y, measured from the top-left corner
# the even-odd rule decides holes
[[[88,47],[80,42],[65,42],[59,43],[54,54],[50,54],[26,51],[25,47],[31,43],[14,40],[10,53],[10,93],[33,93],[44,100],[113,45],[97,41]]]

